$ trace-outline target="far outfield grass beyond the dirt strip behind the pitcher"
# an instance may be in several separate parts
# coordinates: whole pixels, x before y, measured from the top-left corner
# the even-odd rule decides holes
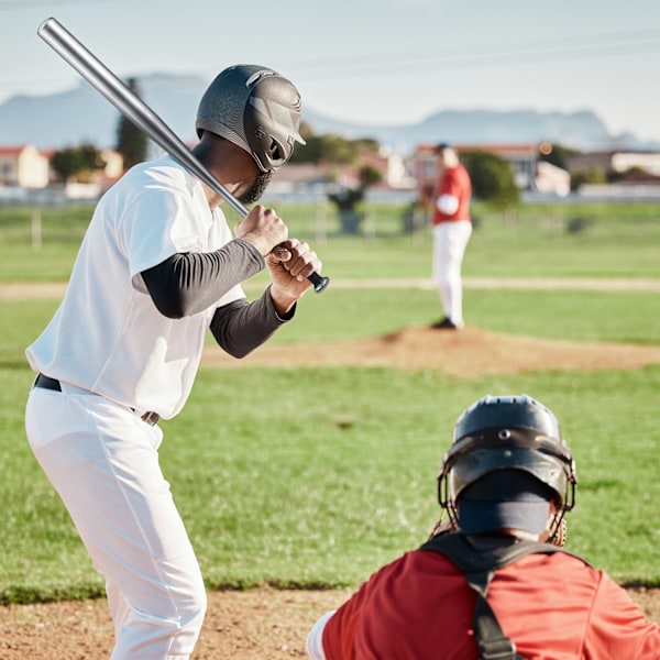
[[[373,222],[364,229],[371,237],[373,226],[374,238],[339,235],[331,210],[319,235],[315,205],[275,207],[290,235],[315,246],[330,277],[429,276],[429,229],[402,234],[405,207],[370,207]],[[91,212],[88,206],[43,209],[42,243],[35,248],[32,209],[0,208],[0,282],[65,282]],[[475,205],[475,216],[464,263],[468,277],[660,276],[660,204],[522,205],[506,219]],[[228,219],[238,220],[231,210]]]

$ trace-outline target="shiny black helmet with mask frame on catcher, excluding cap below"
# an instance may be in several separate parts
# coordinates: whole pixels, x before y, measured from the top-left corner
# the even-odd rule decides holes
[[[471,492],[479,493],[479,487],[470,488],[475,482],[495,473],[504,476],[504,471],[513,471],[507,473],[513,477],[510,483],[529,483],[531,476],[548,490],[558,512],[550,530],[552,538],[564,512],[574,505],[575,466],[554,415],[527,395],[488,395],[459,417],[452,446],[438,474],[438,498],[454,526],[461,494],[468,491],[468,498]],[[502,499],[516,499],[509,496]],[[481,499],[483,492],[476,497]],[[491,499],[496,501],[497,493]]]

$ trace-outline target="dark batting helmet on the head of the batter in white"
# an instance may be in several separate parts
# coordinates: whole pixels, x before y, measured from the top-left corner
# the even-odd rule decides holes
[[[264,66],[238,64],[221,72],[204,94],[195,128],[238,144],[262,172],[284,165],[300,136],[301,102],[294,85]]]

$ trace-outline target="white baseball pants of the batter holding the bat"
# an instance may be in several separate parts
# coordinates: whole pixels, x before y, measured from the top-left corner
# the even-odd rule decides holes
[[[111,658],[188,658],[206,591],[158,464],[162,430],[100,396],[62,387],[32,389],[25,428],[106,579],[116,634]]]

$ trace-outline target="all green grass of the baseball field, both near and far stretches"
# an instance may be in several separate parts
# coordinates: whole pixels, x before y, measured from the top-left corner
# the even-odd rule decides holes
[[[287,211],[300,232],[316,212]],[[525,207],[506,221],[484,211],[465,274],[660,278],[658,211]],[[29,210],[0,210],[0,279],[66,280],[88,212],[44,215],[36,250],[24,231]],[[565,231],[579,212],[593,223]],[[373,240],[329,232],[318,246],[326,272],[338,282],[426,277],[428,237],[400,235],[399,215],[385,209]],[[52,237],[46,222],[68,224]],[[23,352],[56,305],[0,299],[1,603],[103,593],[24,437],[32,373]],[[465,309],[469,323],[510,334],[660,344],[657,293],[468,289]],[[273,341],[375,337],[437,315],[431,290],[331,286],[306,296]],[[521,392],[557,413],[575,454],[570,549],[622,582],[660,585],[660,366],[464,378],[436,370],[245,366],[202,369],[182,415],[162,422],[163,469],[208,586],[356,584],[424,541],[439,513],[435,477],[458,414],[486,393]]]

